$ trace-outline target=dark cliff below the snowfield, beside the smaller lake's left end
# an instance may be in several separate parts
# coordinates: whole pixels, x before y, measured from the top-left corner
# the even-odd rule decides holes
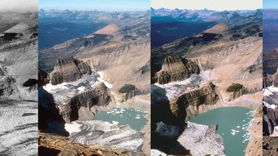
[[[59,112],[66,122],[76,121],[79,119],[81,107],[95,115],[98,110],[94,106],[107,106],[112,101],[111,97],[111,92],[104,83],[97,83],[94,88],[76,94],[64,105],[59,105]]]

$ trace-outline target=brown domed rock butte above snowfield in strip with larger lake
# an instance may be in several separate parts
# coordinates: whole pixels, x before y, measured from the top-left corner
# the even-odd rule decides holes
[[[192,73],[199,73],[196,62],[181,58],[181,56],[167,56],[161,70],[155,73],[157,83],[165,84],[189,78]]]

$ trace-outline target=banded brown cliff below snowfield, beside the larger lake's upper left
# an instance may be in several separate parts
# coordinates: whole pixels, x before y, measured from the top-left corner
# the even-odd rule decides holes
[[[179,119],[190,119],[199,113],[215,107],[219,100],[215,85],[208,83],[203,87],[186,92],[170,101],[170,109]]]

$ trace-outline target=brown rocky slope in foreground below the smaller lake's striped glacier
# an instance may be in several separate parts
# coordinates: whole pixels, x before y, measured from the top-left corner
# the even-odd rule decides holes
[[[127,156],[125,150],[109,148],[100,145],[82,145],[77,144],[67,137],[62,137],[60,135],[39,133],[39,155],[58,155],[58,156]]]

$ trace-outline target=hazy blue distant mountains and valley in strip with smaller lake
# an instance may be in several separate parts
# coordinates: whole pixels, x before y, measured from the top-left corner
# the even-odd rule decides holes
[[[78,10],[43,10],[39,13],[39,49],[49,49],[51,46],[74,38],[90,35],[108,24],[116,24],[122,30],[127,30],[140,21],[149,22],[149,11],[143,12],[104,12]],[[136,21],[136,22],[134,22]],[[1,26],[0,26],[1,28]],[[149,27],[145,26],[145,31]],[[144,31],[144,32],[145,32]],[[138,32],[138,33],[144,33]]]

